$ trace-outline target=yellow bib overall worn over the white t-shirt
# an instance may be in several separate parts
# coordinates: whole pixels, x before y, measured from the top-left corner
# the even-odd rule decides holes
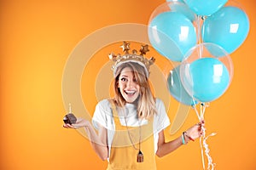
[[[137,170],[155,170],[155,154],[154,154],[154,135],[153,135],[153,121],[148,121],[147,125],[141,127],[141,150],[143,152],[143,162],[137,162],[137,153],[131,142],[138,149],[139,144],[135,144],[135,141],[139,140],[139,127],[125,127],[119,122],[119,116],[116,111],[113,102],[113,120],[115,123],[115,134],[113,136],[113,143],[110,150],[109,162],[107,170],[127,170],[127,169],[137,169]],[[129,129],[129,133],[127,132]],[[132,129],[133,128],[133,129]],[[135,131],[132,131],[136,129]],[[143,134],[143,132],[149,132]],[[138,140],[136,140],[136,138]],[[123,143],[123,145],[122,145]],[[126,143],[126,145],[125,145]],[[129,144],[128,144],[129,143]],[[137,142],[138,143],[138,142]],[[125,145],[125,146],[124,146]]]

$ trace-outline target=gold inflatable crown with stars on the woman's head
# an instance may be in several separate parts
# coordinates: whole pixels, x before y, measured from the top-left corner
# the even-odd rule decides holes
[[[153,65],[154,61],[155,61],[154,57],[147,59],[146,57],[143,56],[144,54],[146,54],[149,51],[148,45],[142,45],[142,47],[140,48],[141,54],[137,54],[136,49],[133,49],[132,54],[129,54],[130,42],[123,42],[123,45],[120,46],[120,48],[123,48],[123,52],[125,52],[125,54],[114,55],[113,53],[111,53],[108,55],[108,58],[113,60],[113,62],[114,62],[113,66],[112,66],[113,74],[115,75],[116,70],[119,67],[119,65],[126,63],[126,62],[135,62],[144,67],[147,77],[148,77],[149,66]]]

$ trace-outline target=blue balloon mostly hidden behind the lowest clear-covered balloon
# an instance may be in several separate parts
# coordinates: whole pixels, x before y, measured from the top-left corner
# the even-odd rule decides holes
[[[172,71],[167,78],[168,89],[170,94],[178,102],[184,105],[195,105],[197,102],[187,93],[180,79],[180,66],[177,66]]]

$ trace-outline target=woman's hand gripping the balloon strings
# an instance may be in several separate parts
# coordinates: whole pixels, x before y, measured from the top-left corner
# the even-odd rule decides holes
[[[201,122],[195,124],[193,127],[190,127],[190,128],[185,132],[185,135],[186,135],[190,140],[197,139],[197,138],[201,137],[201,135],[203,134],[203,129],[202,129],[202,127],[204,127],[204,121],[201,121]]]

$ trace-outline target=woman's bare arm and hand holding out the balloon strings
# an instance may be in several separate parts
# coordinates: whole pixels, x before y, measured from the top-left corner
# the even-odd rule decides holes
[[[196,124],[193,127],[190,127],[186,131],[186,135],[184,135],[185,143],[188,143],[190,139],[197,139],[201,136],[202,130],[201,126],[203,126],[203,122]],[[172,141],[166,142],[164,130],[160,131],[159,139],[158,139],[158,149],[156,151],[156,155],[159,157],[166,156],[171,153],[173,150],[177,150],[183,144],[182,137],[178,137]]]

